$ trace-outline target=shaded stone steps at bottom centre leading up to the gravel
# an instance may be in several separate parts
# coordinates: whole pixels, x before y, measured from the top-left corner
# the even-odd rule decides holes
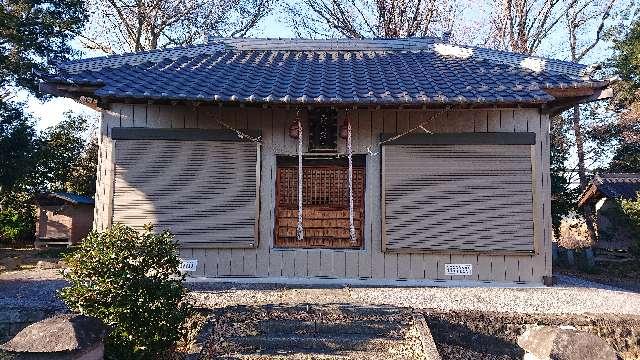
[[[406,311],[347,306],[240,307],[218,312],[227,324],[215,358],[421,359]],[[220,356],[227,353],[226,356]]]

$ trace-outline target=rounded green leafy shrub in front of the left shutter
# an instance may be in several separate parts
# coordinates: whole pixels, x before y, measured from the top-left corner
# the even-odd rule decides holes
[[[116,224],[89,234],[65,261],[70,286],[60,295],[72,310],[111,327],[107,358],[159,358],[183,335],[192,309],[168,231],[138,232]]]

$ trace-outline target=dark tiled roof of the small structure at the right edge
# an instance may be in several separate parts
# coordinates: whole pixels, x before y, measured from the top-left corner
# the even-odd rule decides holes
[[[579,206],[590,199],[603,197],[614,199],[636,199],[640,191],[640,174],[595,174],[587,190],[580,195]]]

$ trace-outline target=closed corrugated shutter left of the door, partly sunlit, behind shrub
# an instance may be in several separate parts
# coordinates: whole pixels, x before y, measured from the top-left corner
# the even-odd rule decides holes
[[[169,229],[183,244],[256,246],[252,142],[117,140],[113,221]]]

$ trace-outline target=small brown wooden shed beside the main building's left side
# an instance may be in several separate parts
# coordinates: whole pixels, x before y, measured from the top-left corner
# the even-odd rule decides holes
[[[93,198],[56,192],[39,195],[36,204],[36,243],[73,245],[91,231]]]

